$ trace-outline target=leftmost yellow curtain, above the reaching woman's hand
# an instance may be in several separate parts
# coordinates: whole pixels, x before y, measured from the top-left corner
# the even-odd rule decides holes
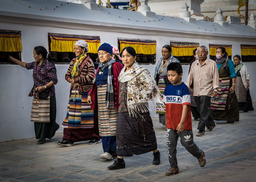
[[[19,31],[0,30],[0,51],[19,52],[22,51]]]

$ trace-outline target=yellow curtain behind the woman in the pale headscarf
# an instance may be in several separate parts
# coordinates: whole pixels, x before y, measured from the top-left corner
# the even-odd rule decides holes
[[[74,52],[74,44],[78,40],[85,40],[88,43],[88,53],[98,53],[100,46],[100,38],[98,36],[82,36],[69,34],[52,34],[49,33],[51,39],[50,51],[57,52]]]

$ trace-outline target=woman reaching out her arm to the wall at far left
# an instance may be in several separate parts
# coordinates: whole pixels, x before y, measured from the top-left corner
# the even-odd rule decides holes
[[[34,122],[35,138],[37,144],[44,144],[46,138],[51,139],[59,125],[56,123],[55,87],[57,84],[56,67],[50,55],[43,46],[36,46],[33,50],[34,62],[25,63],[11,56],[16,64],[33,69],[34,86],[29,96],[33,96],[31,121]]]

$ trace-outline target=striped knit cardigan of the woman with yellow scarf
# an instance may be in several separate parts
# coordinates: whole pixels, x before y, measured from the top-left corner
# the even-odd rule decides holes
[[[76,59],[70,61],[69,69],[65,75],[65,79],[68,81],[71,79],[71,70],[75,64]],[[79,64],[79,72],[77,77],[74,78],[75,83],[79,85],[79,93],[89,92],[93,86],[93,80],[95,77],[95,69],[93,61],[89,56],[84,58]],[[70,87],[70,92],[72,90],[72,86]]]

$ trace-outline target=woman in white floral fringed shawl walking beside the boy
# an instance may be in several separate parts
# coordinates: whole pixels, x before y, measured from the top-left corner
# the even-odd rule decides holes
[[[118,77],[119,109],[117,119],[117,161],[108,169],[125,168],[123,157],[153,151],[153,164],[160,164],[156,134],[150,116],[150,103],[155,101],[165,110],[161,94],[150,72],[136,60],[133,47],[121,52],[124,68]]]

